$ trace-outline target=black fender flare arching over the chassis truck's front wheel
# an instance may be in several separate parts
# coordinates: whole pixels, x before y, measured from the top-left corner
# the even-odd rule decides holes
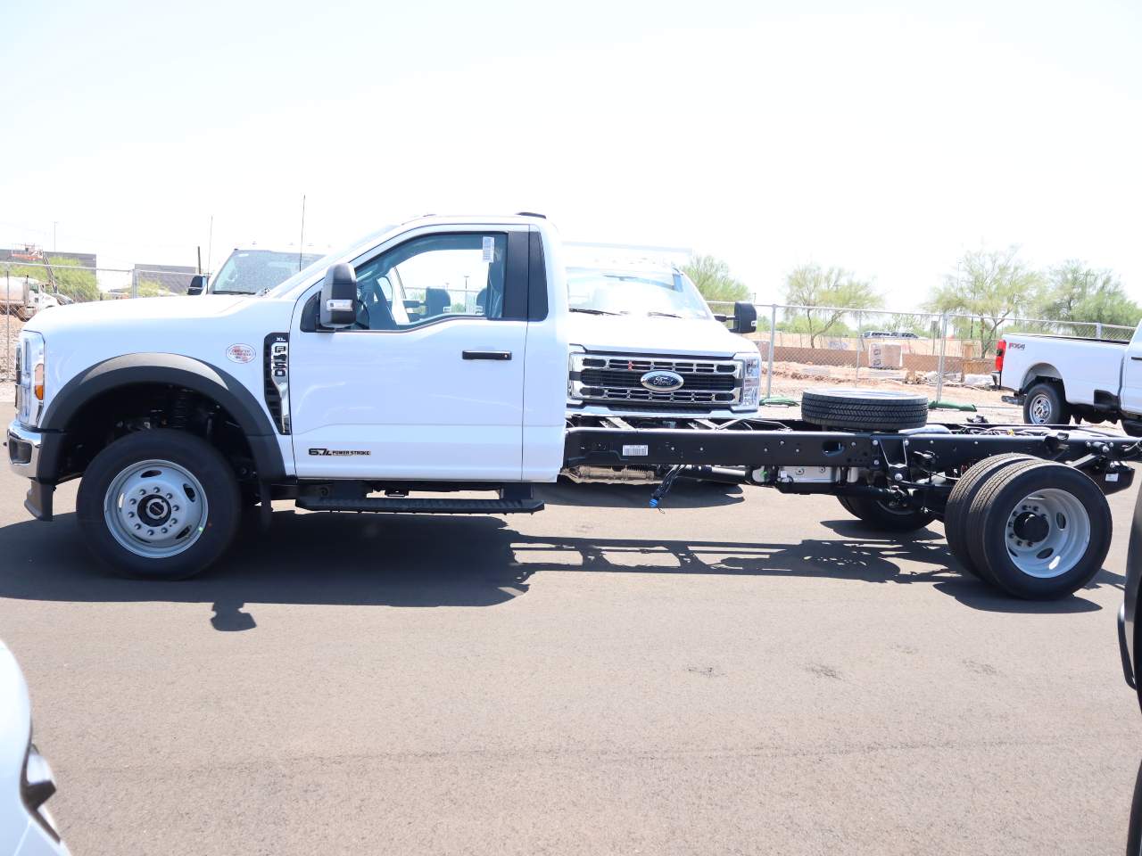
[[[132,383],[169,383],[212,398],[241,426],[254,452],[258,478],[263,482],[286,478],[278,433],[250,390],[218,366],[179,354],[124,354],[96,363],[51,396],[40,429],[66,431],[75,414],[97,395]],[[55,467],[50,465],[41,459],[41,473],[51,473]]]

